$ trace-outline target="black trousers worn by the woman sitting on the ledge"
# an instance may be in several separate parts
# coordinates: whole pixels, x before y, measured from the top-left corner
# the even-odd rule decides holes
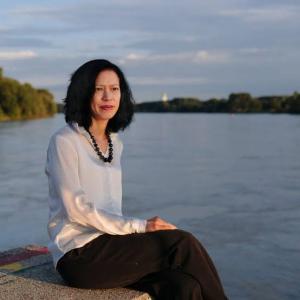
[[[204,247],[180,229],[103,234],[67,252],[57,271],[79,288],[127,287],[163,300],[228,299]]]

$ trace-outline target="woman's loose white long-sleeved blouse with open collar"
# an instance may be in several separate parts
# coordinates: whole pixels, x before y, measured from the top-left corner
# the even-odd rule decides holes
[[[111,134],[111,139],[113,160],[104,163],[94,151],[88,132],[75,122],[50,138],[45,173],[50,208],[48,249],[54,267],[66,252],[101,234],[146,231],[147,220],[122,215],[123,144],[117,133]]]

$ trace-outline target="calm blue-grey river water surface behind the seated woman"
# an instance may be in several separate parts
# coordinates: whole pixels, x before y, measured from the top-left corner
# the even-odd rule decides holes
[[[44,174],[55,118],[0,123],[0,250],[47,244]],[[137,114],[124,214],[192,232],[230,299],[300,299],[300,117]]]

